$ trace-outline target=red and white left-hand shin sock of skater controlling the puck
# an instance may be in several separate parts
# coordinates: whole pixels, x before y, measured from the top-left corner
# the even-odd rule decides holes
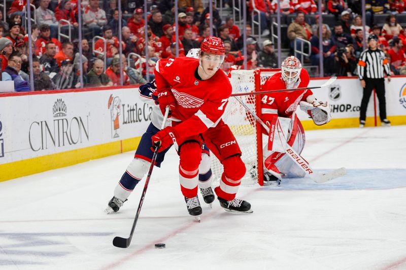
[[[197,140],[187,140],[180,146],[179,181],[181,191],[186,198],[197,195],[201,146]]]

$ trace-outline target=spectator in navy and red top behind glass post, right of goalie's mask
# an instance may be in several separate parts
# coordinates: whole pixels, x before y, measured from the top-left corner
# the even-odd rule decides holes
[[[321,28],[322,43],[323,43],[323,66],[326,74],[334,73],[334,52],[335,44],[331,39],[331,32],[327,30],[327,27],[323,24]],[[316,31],[316,35],[312,36],[310,43],[312,44],[312,54],[310,55],[310,61],[312,65],[318,66],[320,63],[320,51],[319,51],[319,31]]]

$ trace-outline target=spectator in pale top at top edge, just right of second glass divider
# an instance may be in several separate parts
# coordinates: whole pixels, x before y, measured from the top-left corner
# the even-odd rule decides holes
[[[106,12],[99,8],[98,0],[89,0],[89,6],[85,8],[83,21],[92,31],[92,36],[100,35],[101,27],[107,24]]]

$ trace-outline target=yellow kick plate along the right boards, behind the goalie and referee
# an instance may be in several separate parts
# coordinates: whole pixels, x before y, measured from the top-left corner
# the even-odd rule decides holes
[[[395,115],[389,116],[388,120],[391,122],[392,126],[406,125],[406,115]],[[313,120],[301,121],[304,130],[315,130],[315,129],[340,129],[340,128],[358,128],[359,118],[343,118],[343,119],[331,119],[325,125],[317,126],[313,123]],[[365,121],[365,127],[374,127],[375,118],[367,117]],[[377,118],[377,126],[381,126],[381,120]]]

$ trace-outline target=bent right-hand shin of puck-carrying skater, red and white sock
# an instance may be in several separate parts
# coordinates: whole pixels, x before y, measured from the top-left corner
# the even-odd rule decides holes
[[[214,191],[217,197],[231,201],[235,198],[246,168],[240,156],[232,156],[223,160],[223,166],[224,172],[221,175],[220,185]]]

